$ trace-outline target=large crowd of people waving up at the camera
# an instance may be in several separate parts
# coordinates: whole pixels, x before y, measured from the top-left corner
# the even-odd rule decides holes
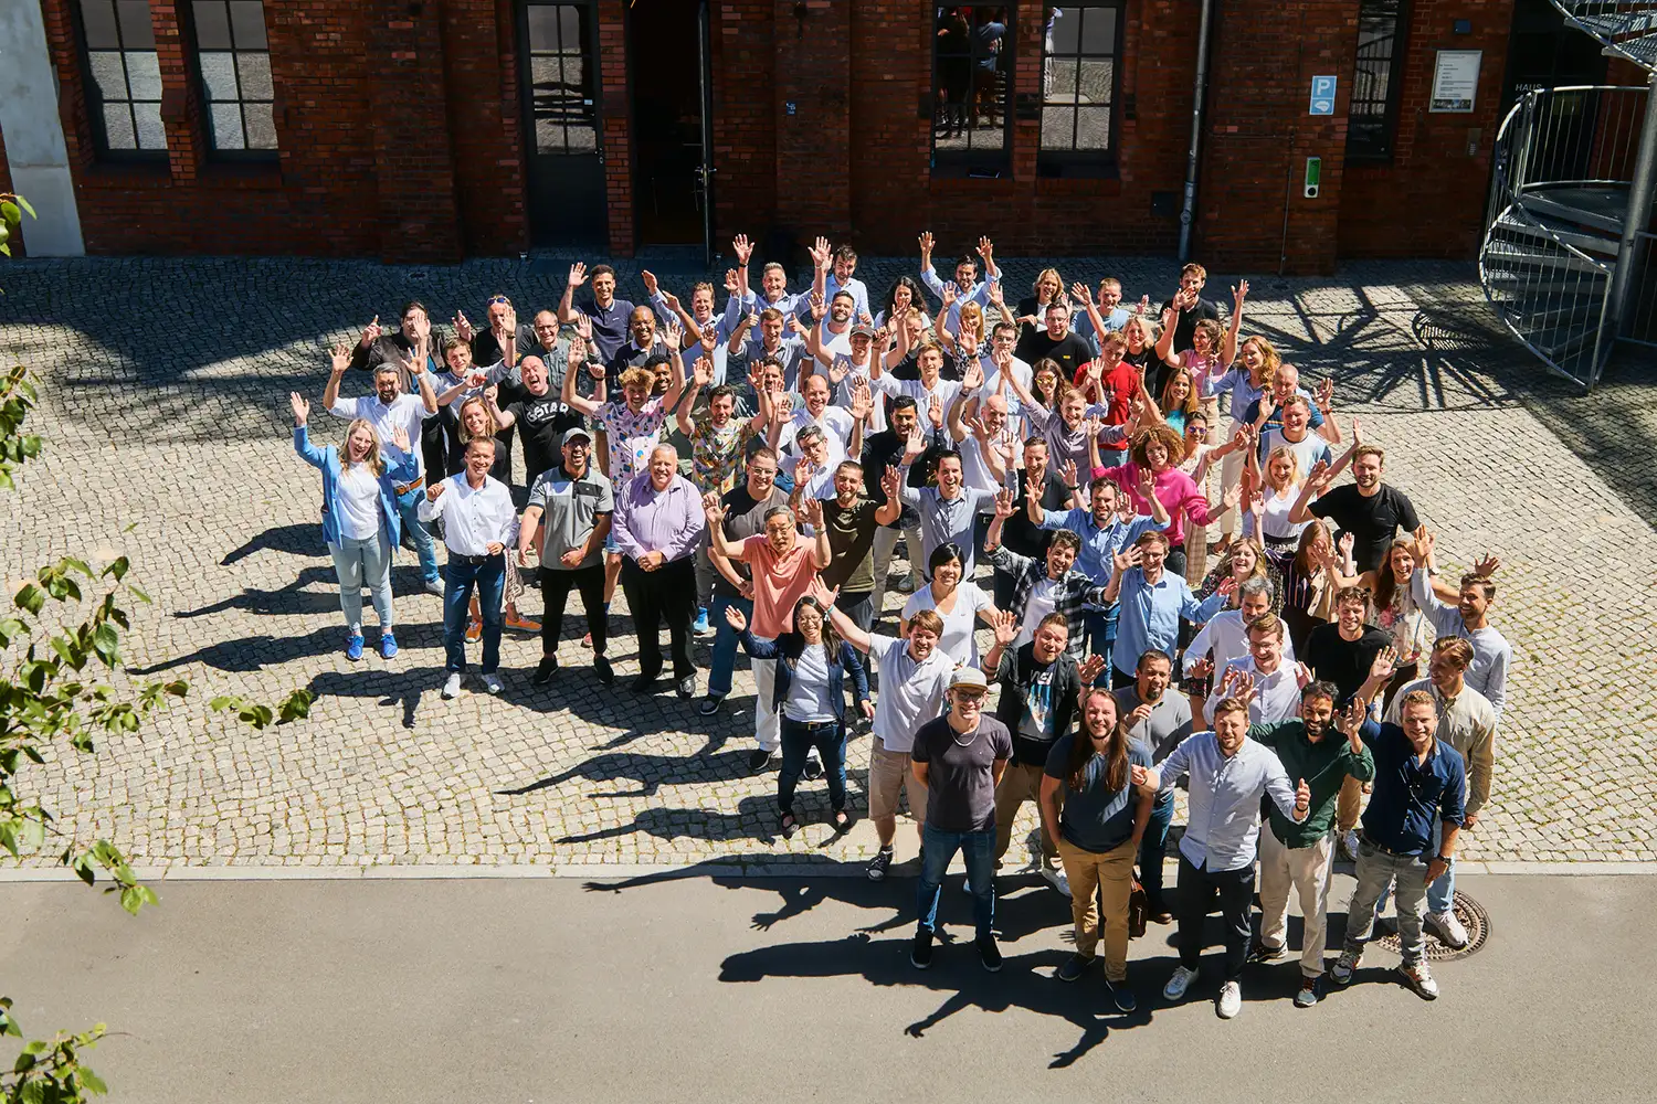
[[[933,960],[956,852],[983,965],[1001,967],[994,872],[1031,801],[1034,862],[1075,925],[1057,977],[1089,973],[1102,938],[1120,1010],[1135,902],[1178,925],[1168,1000],[1218,905],[1229,1018],[1244,967],[1287,953],[1291,892],[1297,1005],[1352,980],[1389,895],[1402,980],[1435,996],[1425,940],[1466,943],[1455,851],[1490,799],[1506,703],[1500,563],[1440,578],[1433,533],[1384,480],[1382,447],[1357,420],[1342,432],[1331,382],[1302,387],[1244,336],[1248,283],[1221,311],[1193,263],[1160,308],[1127,306],[1115,278],[1047,268],[1009,305],[988,238],[944,276],[926,233],[918,278],[872,300],[850,247],[819,238],[799,291],[777,263],[756,286],[752,245],[732,250],[722,311],[709,283],[679,300],[645,271],[635,305],[608,265],[577,263],[529,324],[494,296],[484,326],[457,313],[439,338],[409,303],[396,331],[376,318],[333,351],[323,406],[350,422],[345,444],[313,444],[308,402],[292,407],[295,449],[323,473],[346,655],[363,655],[365,586],[378,652],[396,654],[399,541],[444,599],[446,698],[477,637],[482,685],[502,690],[507,626],[540,632],[530,682],[557,679],[572,589],[611,684],[620,583],[635,692],[666,672],[694,698],[694,642],[713,637],[696,708],[714,717],[746,652],[749,768],[777,770],[782,836],[802,780],[825,778],[833,831],[852,826],[847,743],[868,727],[868,877],[888,876],[905,801],[921,838],[915,967]],[[341,397],[353,369],[365,394]],[[530,586],[539,624],[517,609]],[[891,621],[888,589],[905,596]],[[1331,968],[1337,856],[1357,890]]]

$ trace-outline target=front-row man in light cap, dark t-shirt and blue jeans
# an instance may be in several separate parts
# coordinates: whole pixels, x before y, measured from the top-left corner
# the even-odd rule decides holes
[[[949,712],[915,732],[910,751],[915,778],[926,786],[926,821],[921,828],[920,922],[910,963],[931,965],[933,932],[938,930],[938,897],[943,872],[959,851],[966,861],[966,886],[973,892],[973,924],[984,968],[1001,968],[996,947],[996,786],[1012,758],[1012,735],[994,717],[984,717],[989,684],[976,667],[949,675]]]

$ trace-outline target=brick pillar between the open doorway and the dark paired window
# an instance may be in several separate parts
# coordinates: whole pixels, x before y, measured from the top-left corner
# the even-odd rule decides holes
[[[838,243],[852,232],[852,0],[777,0],[774,20],[777,227]]]

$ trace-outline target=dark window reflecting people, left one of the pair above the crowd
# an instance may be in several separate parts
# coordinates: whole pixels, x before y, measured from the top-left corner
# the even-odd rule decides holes
[[[933,166],[999,174],[1007,161],[1012,15],[1001,3],[938,8],[933,26]]]

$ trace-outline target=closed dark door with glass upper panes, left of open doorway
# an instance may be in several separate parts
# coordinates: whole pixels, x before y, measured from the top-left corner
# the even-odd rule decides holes
[[[598,10],[592,0],[519,5],[519,84],[535,245],[601,245]]]

